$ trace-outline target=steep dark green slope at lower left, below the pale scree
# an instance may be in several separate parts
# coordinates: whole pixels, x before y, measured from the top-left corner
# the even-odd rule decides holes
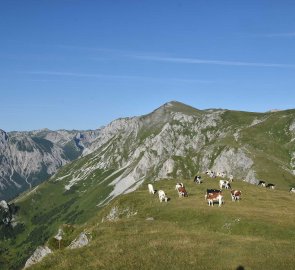
[[[64,166],[55,178],[67,175],[72,166],[80,167],[88,158]],[[112,172],[96,169],[87,180],[79,182],[69,191],[65,190],[64,181],[50,180],[39,185],[36,191],[27,192],[16,200],[15,204],[20,207],[18,222],[25,224],[25,229],[15,238],[0,241],[0,269],[19,269],[36,246],[43,245],[50,236],[55,235],[61,224],[81,224],[91,218],[99,209],[96,204],[112,190],[108,184],[116,175],[101,185]]]

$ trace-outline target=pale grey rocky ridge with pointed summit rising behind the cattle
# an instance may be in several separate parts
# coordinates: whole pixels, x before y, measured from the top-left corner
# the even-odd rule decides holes
[[[83,152],[87,162],[79,170],[73,170],[74,166],[63,171],[61,176],[57,174],[54,181],[64,182],[65,189],[69,190],[97,169],[112,169],[113,173],[105,179],[116,175],[109,183],[113,187],[109,198],[133,191],[147,179],[192,178],[208,169],[256,184],[271,173],[265,175],[265,168],[257,166],[257,158],[264,151],[259,146],[261,138],[256,139],[248,133],[261,128],[264,132],[264,125],[269,124],[273,129],[276,124],[271,122],[275,118],[278,124],[287,122],[284,136],[288,139],[280,145],[284,160],[275,157],[275,152],[267,153],[267,149],[259,159],[263,159],[263,163],[271,159],[290,182],[294,160],[293,117],[294,111],[282,116],[228,110],[200,111],[179,102],[169,102],[148,115],[118,119],[102,128]],[[277,144],[278,138],[271,130],[265,135],[266,141],[269,135],[269,143]],[[292,147],[287,149],[286,145]],[[285,165],[281,166],[282,163]]]

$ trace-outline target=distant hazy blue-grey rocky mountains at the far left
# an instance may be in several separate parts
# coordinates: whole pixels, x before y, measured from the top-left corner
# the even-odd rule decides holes
[[[79,157],[97,131],[0,130],[0,199],[9,200]]]

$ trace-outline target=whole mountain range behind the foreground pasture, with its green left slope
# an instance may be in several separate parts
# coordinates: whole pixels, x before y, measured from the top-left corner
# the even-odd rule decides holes
[[[1,227],[0,265],[20,267],[62,224],[84,224],[147,182],[190,180],[210,169],[288,190],[295,110],[198,110],[171,101],[93,131],[1,131],[0,157],[1,199],[27,190],[11,202],[19,208],[11,226]]]

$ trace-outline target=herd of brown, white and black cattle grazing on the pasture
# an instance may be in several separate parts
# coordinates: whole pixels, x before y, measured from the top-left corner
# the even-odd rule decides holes
[[[216,176],[219,177],[224,177],[225,175],[223,174],[215,174],[212,171],[207,171],[207,175],[209,175],[212,178],[215,178]],[[202,179],[201,176],[196,176],[194,178],[194,182],[196,184],[201,184]],[[237,189],[232,189],[231,188],[231,183],[233,182],[233,177],[232,175],[229,176],[229,180],[219,180],[219,189],[207,189],[206,194],[205,194],[205,200],[207,201],[208,205],[213,206],[214,203],[218,203],[218,206],[220,207],[224,203],[224,196],[222,194],[222,189],[230,189],[230,195],[232,201],[239,201],[241,199],[242,192]],[[259,186],[262,187],[267,187],[270,189],[275,189],[274,184],[266,184],[264,181],[260,181],[258,183]],[[155,194],[158,192],[159,195],[159,200],[160,202],[168,202],[169,198],[167,197],[166,193],[163,190],[155,190],[152,184],[148,184],[148,190],[149,193]],[[183,183],[177,183],[175,186],[175,190],[178,192],[179,197],[188,197],[188,192],[186,191],[184,184]],[[295,193],[295,188],[290,189],[291,193]]]

